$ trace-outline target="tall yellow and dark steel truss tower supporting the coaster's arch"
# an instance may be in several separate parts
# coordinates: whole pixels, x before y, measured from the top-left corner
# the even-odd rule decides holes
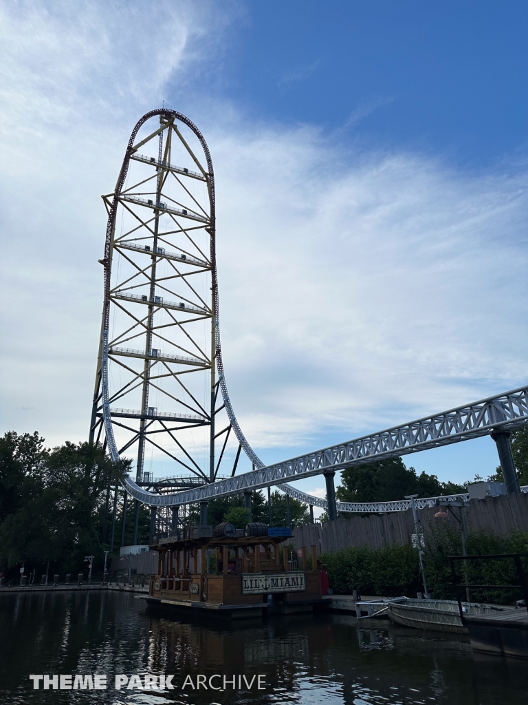
[[[138,483],[147,450],[214,482],[231,425],[217,399],[215,179],[196,125],[168,109],[144,115],[103,202],[104,304],[89,440],[104,427],[114,460],[135,446]],[[217,462],[215,426],[226,422]]]

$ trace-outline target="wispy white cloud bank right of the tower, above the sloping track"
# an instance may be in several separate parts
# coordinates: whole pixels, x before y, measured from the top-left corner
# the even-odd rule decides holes
[[[526,173],[353,154],[306,128],[214,147],[225,367],[258,446],[524,382]]]

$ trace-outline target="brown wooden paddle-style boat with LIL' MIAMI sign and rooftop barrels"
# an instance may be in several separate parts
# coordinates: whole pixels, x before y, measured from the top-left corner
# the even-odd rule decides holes
[[[218,535],[225,532],[222,527],[186,527],[156,537],[151,548],[158,551],[158,570],[146,600],[231,618],[309,612],[322,604],[315,546],[308,570],[306,547],[298,552],[300,566],[288,547],[280,547],[291,529],[270,529],[268,535],[268,527],[260,525],[263,535],[245,536],[232,527],[228,533],[234,535]]]

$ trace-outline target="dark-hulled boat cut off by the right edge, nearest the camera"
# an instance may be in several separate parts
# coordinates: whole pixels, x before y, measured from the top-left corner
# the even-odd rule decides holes
[[[528,658],[528,612],[512,607],[489,615],[464,615],[474,651]]]

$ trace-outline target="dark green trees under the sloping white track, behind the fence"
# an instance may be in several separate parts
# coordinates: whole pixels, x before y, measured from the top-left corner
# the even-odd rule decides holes
[[[388,458],[343,470],[336,496],[342,502],[390,502],[409,494],[436,497],[465,491],[463,485],[440,482],[436,475],[418,475],[401,458]]]

